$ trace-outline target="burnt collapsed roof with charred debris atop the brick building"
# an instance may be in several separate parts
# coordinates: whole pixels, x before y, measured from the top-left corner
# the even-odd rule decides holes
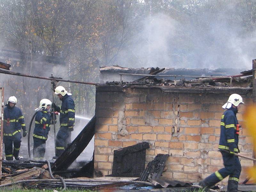
[[[154,73],[155,72],[155,73]],[[252,70],[230,74],[229,69],[159,69],[155,68],[124,68],[108,66],[100,68],[101,81],[107,85],[119,85],[120,81],[126,86],[168,86],[168,87],[252,87]],[[120,73],[123,74],[122,78]],[[156,74],[158,73],[158,74]],[[127,74],[127,75],[126,75]],[[129,75],[128,75],[129,74]],[[134,74],[134,75],[131,75]],[[141,76],[135,74],[154,74],[155,76]],[[233,73],[234,74],[234,73]],[[171,76],[161,76],[171,75]],[[175,77],[174,77],[175,76]],[[212,76],[212,77],[210,77]],[[215,77],[217,76],[217,77]],[[247,76],[247,77],[245,77]],[[179,78],[180,77],[180,78]],[[198,78],[195,78],[198,77]],[[104,80],[110,81],[104,81]],[[111,81],[112,80],[112,81]],[[113,81],[114,80],[114,81]]]

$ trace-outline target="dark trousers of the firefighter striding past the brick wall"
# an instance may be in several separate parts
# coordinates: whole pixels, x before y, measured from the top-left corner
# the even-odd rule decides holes
[[[237,156],[230,154],[229,152],[221,151],[221,154],[225,167],[206,177],[199,183],[199,185],[204,188],[211,187],[229,175],[228,192],[237,192],[241,173],[240,161]]]

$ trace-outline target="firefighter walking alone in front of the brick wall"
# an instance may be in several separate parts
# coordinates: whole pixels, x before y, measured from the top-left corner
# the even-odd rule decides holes
[[[243,98],[240,95],[232,94],[229,96],[227,103],[222,106],[223,109],[227,109],[223,113],[220,122],[219,150],[223,158],[224,168],[199,182],[199,185],[206,188],[206,190],[229,176],[227,191],[237,192],[241,164],[238,157],[234,155],[234,153],[240,152],[238,149],[240,126],[237,122],[236,113],[240,104],[243,103]]]

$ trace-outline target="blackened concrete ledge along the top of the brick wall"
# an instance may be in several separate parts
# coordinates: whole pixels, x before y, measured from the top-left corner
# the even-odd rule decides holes
[[[163,87],[163,86],[127,86],[125,88],[160,88],[166,93],[204,93],[204,94],[233,94],[238,93],[239,95],[252,94],[252,88],[244,87]],[[120,85],[106,85],[97,84],[96,91],[113,91],[122,92],[125,88]]]

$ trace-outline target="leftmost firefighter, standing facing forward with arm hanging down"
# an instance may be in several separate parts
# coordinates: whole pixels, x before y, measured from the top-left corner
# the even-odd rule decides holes
[[[24,121],[24,116],[20,108],[16,107],[17,98],[15,96],[10,96],[8,98],[6,107],[4,108],[4,150],[6,160],[12,161],[13,156],[16,160],[20,160],[20,143],[21,134],[20,129],[23,129],[23,137],[26,137],[26,124]],[[13,151],[12,151],[13,143]]]

